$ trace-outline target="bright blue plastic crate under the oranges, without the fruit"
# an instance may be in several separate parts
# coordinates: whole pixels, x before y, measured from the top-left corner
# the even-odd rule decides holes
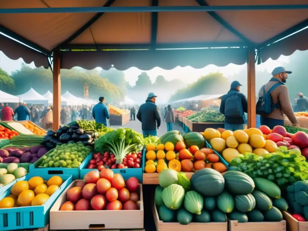
[[[30,180],[33,176],[38,175],[29,173],[26,176],[18,178],[14,183],[18,180]],[[43,175],[41,177],[43,177],[43,180],[49,180],[52,176],[56,175]],[[0,209],[0,230],[37,229],[47,225],[49,223],[49,210],[64,189],[72,182],[71,175],[63,174],[61,177],[65,181],[58,190],[49,197],[44,205]],[[11,187],[12,186],[13,185],[11,185]],[[11,194],[11,187],[5,192],[0,193],[0,200]]]

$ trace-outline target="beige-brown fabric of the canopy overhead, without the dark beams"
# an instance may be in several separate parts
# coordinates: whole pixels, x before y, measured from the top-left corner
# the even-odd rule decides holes
[[[307,0],[160,0],[158,6],[199,6],[199,3],[208,4],[209,6],[227,6],[227,5],[300,5],[307,4]],[[0,8],[46,8],[46,7],[97,7],[97,6],[151,6],[151,0],[10,0],[1,1]],[[174,48],[174,47],[247,47],[259,46],[267,40],[281,34],[282,32],[298,25],[308,19],[308,9],[303,10],[237,10],[237,11],[217,11],[216,16],[211,12],[158,12],[157,13],[157,34],[155,38],[154,49],[156,48]],[[82,28],[91,18],[95,17],[95,13],[25,13],[25,14],[0,14],[0,31],[13,31],[15,34],[25,38],[27,41],[42,47],[46,53],[54,50],[62,49],[80,49],[83,47],[91,47],[91,49],[101,50],[118,49],[119,46],[126,46],[128,49],[151,49],[152,42],[152,13],[150,12],[129,12],[129,13],[104,13],[95,22],[90,23],[87,28],[75,34]],[[218,18],[218,19],[217,19]],[[307,24],[308,25],[308,24]],[[306,29],[307,30],[307,29]],[[74,37],[71,37],[75,34]],[[295,50],[306,50],[307,39],[299,39],[302,35],[291,36],[289,43],[294,45],[284,47],[285,54],[292,54]],[[301,37],[303,38],[303,37]],[[48,67],[47,59],[40,52],[29,51],[28,48],[17,48],[20,44],[11,42],[2,42],[3,36],[0,36],[0,50],[8,57],[23,58],[26,62],[34,61],[36,66]],[[301,42],[299,42],[301,41]],[[63,43],[67,42],[67,43]],[[275,44],[280,47],[283,40]],[[153,45],[153,44],[152,44]],[[86,48],[85,48],[86,49]],[[217,49],[218,50],[218,49]],[[227,50],[227,49],[225,49]],[[262,54],[268,52],[268,57],[276,57],[282,53],[272,54],[273,47],[265,47],[262,49]],[[267,50],[267,51],[266,51]],[[266,52],[265,52],[266,51]],[[279,51],[279,49],[277,50]],[[72,67],[72,61],[67,58],[75,57],[75,65],[88,68],[90,64],[88,59],[90,56],[93,63],[99,64],[100,67],[106,66],[107,63],[122,68],[132,67],[137,61],[132,61],[131,57],[135,57],[136,53],[127,51],[125,54],[113,51],[112,54],[108,51],[102,52],[70,52],[63,51],[63,66],[62,68]],[[204,50],[200,53],[212,53],[211,49]],[[219,53],[220,52],[220,53]],[[218,51],[218,54],[222,54]],[[226,53],[234,52],[234,56],[229,57],[228,63],[242,64],[242,57],[235,57],[241,51],[225,51]],[[173,57],[173,51],[168,51],[164,54],[170,62],[169,58]],[[197,52],[198,53],[198,52]],[[18,55],[16,55],[18,54]],[[124,62],[120,54],[124,54],[126,61],[131,64],[122,65]],[[160,51],[152,51],[152,53],[139,52],[144,57],[140,60],[148,59],[150,66],[143,67],[139,64],[139,68],[153,68],[160,63],[166,63],[162,60],[154,60],[154,58],[162,58]],[[151,55],[148,55],[151,54]],[[190,51],[182,51],[181,55],[189,56]],[[84,58],[83,56],[86,56]],[[109,60],[114,58],[112,62]],[[200,56],[199,56],[200,57]],[[203,55],[201,58],[208,59],[209,55]],[[233,59],[235,61],[233,61]],[[118,61],[119,60],[119,61]],[[241,61],[239,61],[241,60]],[[263,60],[263,59],[262,59]],[[102,62],[103,61],[103,62]],[[196,59],[195,59],[196,61]],[[118,63],[119,62],[119,63]],[[173,61],[171,61],[173,62]],[[196,64],[196,66],[201,65]],[[69,63],[69,64],[68,64]],[[78,63],[78,64],[77,64]],[[180,66],[190,65],[192,61],[182,60]],[[215,64],[218,66],[226,65],[226,61],[204,60],[203,65]],[[174,63],[167,69],[174,67]],[[136,66],[136,65],[135,65]],[[204,67],[203,66],[203,67]],[[97,67],[97,66],[95,66]],[[111,66],[110,66],[111,67]],[[108,64],[108,68],[109,64]]]

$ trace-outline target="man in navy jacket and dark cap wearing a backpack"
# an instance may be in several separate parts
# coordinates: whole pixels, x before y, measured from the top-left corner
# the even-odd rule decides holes
[[[243,93],[240,93],[240,86],[242,86],[242,85],[238,81],[233,81],[231,83],[231,87],[230,87],[230,90],[228,91],[228,93],[221,97],[221,104],[220,104],[220,108],[219,108],[219,111],[220,111],[221,114],[225,115],[226,100],[230,96],[237,94],[237,93],[238,93],[239,98],[241,99],[243,111],[247,113],[247,99],[246,99],[246,96]],[[225,116],[225,129],[231,130],[231,131],[244,129],[244,124],[245,124],[244,116],[245,115],[243,115],[242,117],[227,117],[227,116]]]

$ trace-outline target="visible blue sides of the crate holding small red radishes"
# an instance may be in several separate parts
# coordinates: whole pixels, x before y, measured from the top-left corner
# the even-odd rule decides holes
[[[141,151],[141,153],[142,153],[141,163],[143,164],[144,159],[145,159],[144,149]],[[83,165],[83,168],[80,169],[80,178],[79,179],[83,179],[84,175],[86,175],[87,172],[91,172],[92,170],[98,171],[97,169],[87,168],[90,160],[91,160],[91,158],[88,159],[88,157],[87,157],[87,159],[84,161],[85,164]],[[141,165],[141,163],[140,163],[140,165]],[[130,177],[134,176],[139,180],[139,182],[142,182],[142,165],[140,166],[140,168],[112,168],[111,170],[114,173],[120,173],[123,176],[124,180],[128,180]]]

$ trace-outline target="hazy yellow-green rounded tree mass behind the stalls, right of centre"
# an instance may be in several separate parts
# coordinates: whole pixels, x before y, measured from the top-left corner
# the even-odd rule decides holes
[[[200,77],[196,82],[184,87],[173,94],[169,102],[187,99],[197,95],[224,94],[230,88],[228,79],[219,72]]]

